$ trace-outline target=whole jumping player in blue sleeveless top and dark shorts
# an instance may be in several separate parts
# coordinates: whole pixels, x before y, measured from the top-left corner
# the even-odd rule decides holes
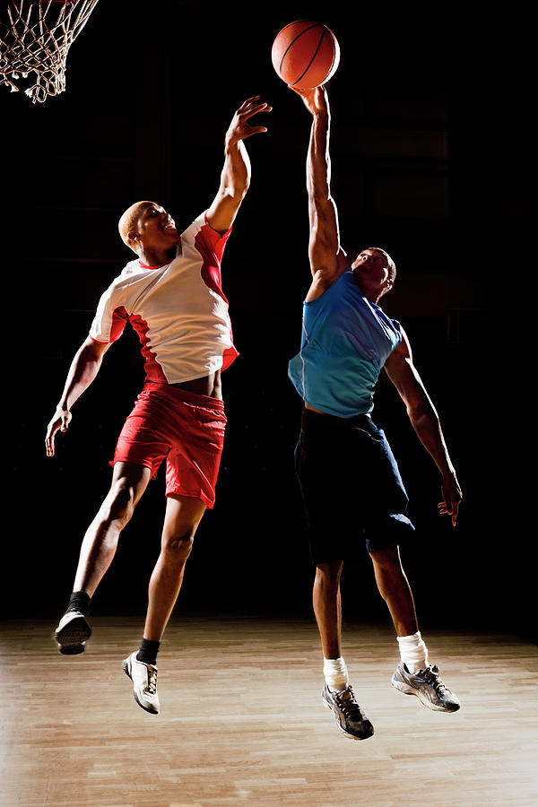
[[[392,684],[431,709],[454,712],[459,701],[430,664],[417,624],[399,543],[412,535],[407,496],[382,430],[372,422],[374,387],[385,367],[413,429],[441,474],[439,513],[456,525],[462,493],[438,414],[412,361],[403,328],[379,308],[395,283],[395,263],[368,247],[354,258],[340,243],[330,192],[330,109],[325,88],[297,90],[312,116],[307,159],[309,260],[300,351],[289,367],[304,409],[296,467],[316,566],[314,611],[324,653],[325,706],[353,739],[373,733],[357,703],[342,655],[340,577],[364,538],[379,593],[395,625],[400,664]]]

